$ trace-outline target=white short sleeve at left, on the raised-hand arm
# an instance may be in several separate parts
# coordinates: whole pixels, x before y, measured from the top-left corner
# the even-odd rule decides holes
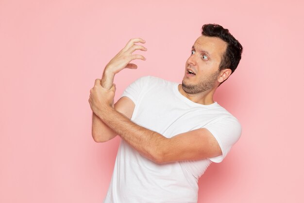
[[[125,90],[122,92],[121,97],[127,96],[129,97],[134,104],[136,105],[137,99],[142,92],[145,85],[148,84],[148,81],[151,76],[142,76],[132,82]]]

